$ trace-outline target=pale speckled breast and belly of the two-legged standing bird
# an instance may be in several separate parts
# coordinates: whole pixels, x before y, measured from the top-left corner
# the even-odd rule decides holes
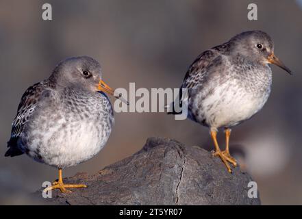
[[[207,127],[233,127],[259,112],[270,94],[271,70],[246,70],[241,74],[229,68],[223,77],[192,92],[189,115]],[[237,75],[236,75],[237,74]]]

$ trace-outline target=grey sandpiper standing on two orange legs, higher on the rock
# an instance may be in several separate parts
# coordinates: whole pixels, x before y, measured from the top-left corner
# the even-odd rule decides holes
[[[275,56],[273,40],[268,34],[245,31],[201,53],[181,85],[188,89],[188,118],[210,128],[215,146],[213,156],[220,157],[229,172],[228,162],[237,165],[229,153],[231,127],[251,118],[266,103],[272,83],[269,64],[292,74]],[[177,114],[172,104],[168,108]],[[221,151],[216,140],[220,127],[225,128],[225,151]]]

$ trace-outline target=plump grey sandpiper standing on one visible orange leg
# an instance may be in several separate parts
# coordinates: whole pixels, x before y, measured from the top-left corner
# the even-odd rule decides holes
[[[85,188],[64,184],[62,169],[85,162],[105,146],[114,116],[104,92],[116,96],[102,80],[96,60],[82,56],[60,62],[48,79],[23,94],[5,156],[26,153],[37,162],[58,168],[58,181],[45,191]]]

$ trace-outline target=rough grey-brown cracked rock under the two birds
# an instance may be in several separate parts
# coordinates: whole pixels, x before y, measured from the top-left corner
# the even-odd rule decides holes
[[[64,179],[88,188],[43,199],[59,205],[260,205],[259,198],[247,196],[251,177],[233,170],[229,174],[219,158],[198,146],[149,138],[141,151],[95,175]]]

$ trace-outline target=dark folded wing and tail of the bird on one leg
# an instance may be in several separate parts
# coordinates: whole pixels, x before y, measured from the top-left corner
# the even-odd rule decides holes
[[[12,122],[12,132],[10,140],[8,141],[9,149],[6,151],[5,157],[14,157],[23,154],[23,151],[18,148],[18,140],[23,134],[23,128],[29,120],[29,117],[34,113],[46,84],[45,81],[36,83],[34,86],[29,87],[23,94],[21,102],[18,105],[16,117]]]

